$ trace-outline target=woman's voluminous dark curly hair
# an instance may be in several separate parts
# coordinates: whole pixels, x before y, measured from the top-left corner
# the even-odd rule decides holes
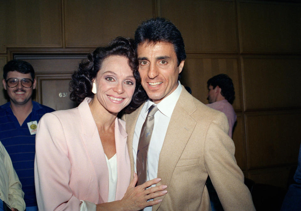
[[[87,60],[83,60],[78,69],[72,74],[69,83],[70,99],[81,103],[85,97],[93,97],[92,80],[102,67],[103,60],[112,55],[124,56],[133,70],[136,80],[135,92],[131,102],[123,109],[124,113],[131,113],[147,99],[147,94],[141,86],[141,78],[138,72],[138,60],[135,53],[134,40],[124,37],[116,37],[106,47],[98,47],[93,53],[88,54]]]

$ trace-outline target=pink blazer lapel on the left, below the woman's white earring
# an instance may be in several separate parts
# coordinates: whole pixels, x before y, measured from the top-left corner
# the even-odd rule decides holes
[[[86,100],[87,98],[84,101]],[[98,183],[98,194],[100,196],[99,201],[100,203],[104,203],[108,201],[108,167],[103,146],[88,102],[82,102],[78,106],[78,110],[84,128],[82,140],[87,148],[87,153],[92,163]],[[85,173],[87,172],[83,172],[83,174]],[[102,187],[101,191],[99,190],[99,187]]]

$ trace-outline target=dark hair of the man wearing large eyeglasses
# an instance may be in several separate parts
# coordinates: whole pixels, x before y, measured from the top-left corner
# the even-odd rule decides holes
[[[30,73],[32,80],[34,80],[34,68],[28,62],[13,59],[10,60],[3,67],[3,78],[6,80],[7,74],[10,71],[17,71],[19,73],[27,74]]]

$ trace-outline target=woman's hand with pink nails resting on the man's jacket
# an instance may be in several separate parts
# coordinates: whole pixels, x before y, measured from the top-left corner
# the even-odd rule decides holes
[[[154,201],[147,201],[152,198],[156,198],[159,196],[163,196],[167,193],[166,185],[161,185],[157,187],[150,187],[154,184],[157,184],[161,181],[160,178],[156,178],[153,180],[149,180],[142,185],[136,186],[138,180],[138,176],[135,173],[134,179],[129,184],[127,191],[124,194],[124,197],[120,200],[122,207],[124,210],[134,211],[134,210],[141,210],[148,206],[153,206],[158,204],[162,201],[162,199],[157,199]],[[145,188],[150,187],[145,190]]]

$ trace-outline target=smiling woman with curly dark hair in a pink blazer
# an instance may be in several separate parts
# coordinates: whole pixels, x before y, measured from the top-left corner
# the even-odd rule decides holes
[[[36,134],[35,187],[40,211],[140,210],[166,193],[156,178],[130,181],[125,122],[146,99],[134,41],[117,37],[88,55],[72,75],[77,108],[44,115]],[[129,150],[131,152],[131,149]]]

